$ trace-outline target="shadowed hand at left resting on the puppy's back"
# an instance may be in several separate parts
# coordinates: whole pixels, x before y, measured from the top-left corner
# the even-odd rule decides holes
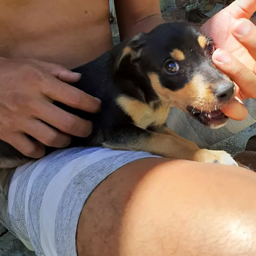
[[[52,103],[98,112],[99,99],[65,83],[79,79],[80,74],[57,64],[0,58],[0,139],[28,157],[40,158],[45,154],[45,145],[61,148],[70,143],[69,135],[90,135],[90,121]]]

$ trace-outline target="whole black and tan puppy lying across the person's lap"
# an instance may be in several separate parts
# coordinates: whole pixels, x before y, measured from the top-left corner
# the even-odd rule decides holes
[[[212,63],[213,52],[211,40],[193,25],[165,23],[74,69],[82,78],[73,86],[101,99],[102,111],[89,114],[55,102],[94,125],[88,138],[73,137],[69,147],[103,146],[237,165],[225,151],[200,149],[165,125],[172,106],[211,128],[227,122],[220,109],[234,97],[235,87]],[[47,154],[54,150],[48,147]],[[29,160],[0,142],[0,167]]]

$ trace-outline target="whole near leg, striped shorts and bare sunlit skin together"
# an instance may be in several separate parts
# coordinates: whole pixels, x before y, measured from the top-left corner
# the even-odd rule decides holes
[[[231,246],[221,248],[225,239],[232,245],[231,228],[244,232],[234,245],[240,251],[255,239],[251,171],[139,152],[71,151],[18,169],[5,193],[9,228],[30,241],[37,255],[74,256],[77,244],[78,256],[165,256],[180,243],[183,251],[174,256],[193,248],[231,256]],[[240,255],[255,253],[248,251]]]

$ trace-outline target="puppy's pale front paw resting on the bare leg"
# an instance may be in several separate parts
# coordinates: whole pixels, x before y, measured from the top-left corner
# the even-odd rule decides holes
[[[225,151],[201,149],[197,151],[193,160],[197,162],[238,166],[238,163]]]

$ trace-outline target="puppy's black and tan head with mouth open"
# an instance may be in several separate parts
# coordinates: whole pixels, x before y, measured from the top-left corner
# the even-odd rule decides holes
[[[211,39],[193,25],[165,23],[125,44],[115,59],[115,71],[143,78],[144,92],[153,90],[162,101],[217,128],[228,119],[221,108],[234,97],[235,87],[213,64],[214,50]]]

